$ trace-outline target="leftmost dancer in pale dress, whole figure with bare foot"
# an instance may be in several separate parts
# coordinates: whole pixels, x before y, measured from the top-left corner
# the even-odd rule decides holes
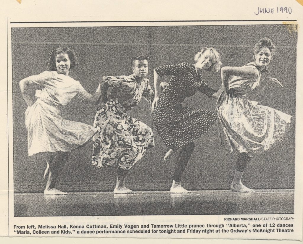
[[[48,71],[20,81],[22,96],[28,105],[25,111],[28,156],[38,155],[38,159],[47,164],[45,195],[66,194],[55,188],[56,180],[70,152],[97,132],[93,126],[61,116],[62,108],[73,98],[96,103],[101,95],[100,85],[91,95],[79,81],[69,77],[70,68],[77,65],[77,57],[71,49],[57,48],[50,55]]]

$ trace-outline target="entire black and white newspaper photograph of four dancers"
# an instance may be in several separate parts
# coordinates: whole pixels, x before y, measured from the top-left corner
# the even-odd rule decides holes
[[[294,213],[297,25],[121,24],[12,25],[14,216]]]

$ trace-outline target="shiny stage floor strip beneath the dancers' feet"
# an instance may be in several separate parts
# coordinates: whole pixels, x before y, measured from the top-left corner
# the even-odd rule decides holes
[[[15,216],[118,216],[118,215],[206,215],[293,213],[294,190],[230,190],[73,192],[65,196],[15,193]]]

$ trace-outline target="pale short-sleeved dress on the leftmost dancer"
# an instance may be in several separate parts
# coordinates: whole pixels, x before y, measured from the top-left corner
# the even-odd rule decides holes
[[[72,98],[84,100],[91,95],[79,81],[57,71],[44,71],[28,77],[36,88],[37,101],[25,111],[28,131],[28,156],[40,152],[71,151],[88,141],[97,129],[80,122],[64,120],[62,108]]]

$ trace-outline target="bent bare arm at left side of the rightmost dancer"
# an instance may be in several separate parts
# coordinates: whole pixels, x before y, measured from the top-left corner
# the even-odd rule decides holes
[[[221,80],[222,85],[225,88],[225,92],[228,94],[229,87],[228,87],[228,79],[231,75],[245,77],[245,78],[253,78],[258,75],[258,71],[256,68],[252,67],[232,67],[232,66],[225,66],[221,68]]]

